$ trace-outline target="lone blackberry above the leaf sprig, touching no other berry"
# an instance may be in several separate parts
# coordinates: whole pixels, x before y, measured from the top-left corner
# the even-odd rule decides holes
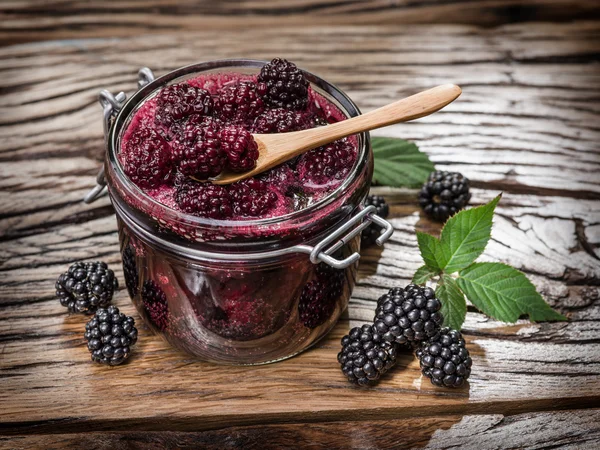
[[[470,199],[469,179],[458,172],[432,172],[419,192],[423,211],[439,222],[463,209]]]

